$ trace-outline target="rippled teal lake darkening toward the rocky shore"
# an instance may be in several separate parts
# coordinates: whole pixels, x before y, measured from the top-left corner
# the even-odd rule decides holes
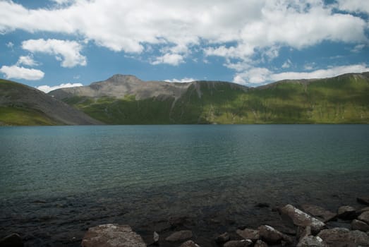
[[[273,207],[334,210],[369,188],[368,125],[1,127],[0,140],[0,232],[28,246],[79,246],[110,222],[210,246],[276,224]]]

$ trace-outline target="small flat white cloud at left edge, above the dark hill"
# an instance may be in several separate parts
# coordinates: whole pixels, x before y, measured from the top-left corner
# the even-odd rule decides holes
[[[34,68],[24,68],[16,65],[2,66],[0,72],[6,79],[40,80],[44,78],[44,72]]]

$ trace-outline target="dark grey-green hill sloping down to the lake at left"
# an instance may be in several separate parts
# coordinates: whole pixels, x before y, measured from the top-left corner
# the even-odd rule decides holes
[[[0,125],[101,123],[78,109],[27,85],[0,80]]]

